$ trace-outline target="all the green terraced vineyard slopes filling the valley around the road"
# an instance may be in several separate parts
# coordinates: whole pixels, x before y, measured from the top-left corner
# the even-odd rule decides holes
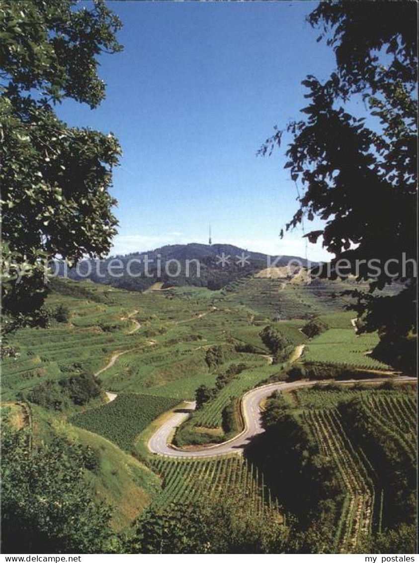
[[[201,385],[212,392],[218,376],[226,376],[233,364],[244,364],[238,372],[233,369],[233,378],[225,378],[213,399],[184,422],[180,428],[184,434],[177,433],[175,439],[188,447],[219,442],[236,432],[238,399],[272,376],[286,378],[290,367],[272,363],[271,351],[260,337],[267,324],[274,325],[291,348],[305,344],[299,362],[386,368],[365,355],[375,346],[376,336],[357,336],[350,324],[352,314],[339,310],[337,301],[327,305],[327,293],[319,296],[319,287],[287,284],[285,289],[283,280],[257,278],[239,280],[230,291],[217,292],[173,288],[139,294],[69,281],[58,286],[60,291],[51,294],[47,306],[64,305],[69,318],[66,323],[53,321],[47,329],[26,328],[13,335],[11,343],[18,354],[3,361],[3,399],[13,404],[29,401],[38,441],[59,434],[98,450],[97,473],[89,473],[88,486],[98,498],[118,507],[118,526],[128,525],[150,503],[163,509],[172,502],[222,501],[223,495],[250,500],[252,514],[269,513],[269,519],[282,521],[283,511],[278,510],[278,500],[272,500],[256,463],[252,466],[237,455],[225,454],[174,461],[151,455],[145,439],[160,414],[184,400],[195,400]],[[277,318],[278,311],[282,318]],[[321,315],[330,328],[308,341],[300,329],[307,323],[302,317],[312,314]],[[287,315],[301,318],[286,320]],[[217,353],[208,355],[210,348]],[[71,398],[78,381],[92,391],[85,400],[83,394],[76,395],[77,400],[82,396],[79,403]],[[394,507],[380,464],[366,454],[361,430],[353,431],[358,418],[345,418],[344,407],[361,401],[359,419],[375,425],[371,440],[377,442],[385,435],[410,468],[415,460],[415,400],[407,392],[323,387],[283,394],[281,408],[299,413],[320,455],[334,467],[341,493],[332,514],[333,549],[345,553],[354,551],[371,531],[393,525]],[[52,394],[51,404],[43,402],[40,390],[44,396]],[[118,397],[103,404],[105,390]],[[55,400],[60,392],[67,393],[65,401],[61,396]],[[159,420],[165,420],[164,414]],[[132,452],[141,455],[154,473],[138,459],[125,463]],[[386,468],[386,475],[391,471],[391,466]],[[128,490],[121,490],[119,476],[133,491],[131,500]],[[274,490],[271,482],[269,486]]]

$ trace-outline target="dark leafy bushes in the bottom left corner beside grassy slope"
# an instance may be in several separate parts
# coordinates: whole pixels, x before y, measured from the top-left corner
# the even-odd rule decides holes
[[[110,508],[86,487],[86,452],[58,440],[31,448],[4,425],[2,434],[2,552],[109,551]]]

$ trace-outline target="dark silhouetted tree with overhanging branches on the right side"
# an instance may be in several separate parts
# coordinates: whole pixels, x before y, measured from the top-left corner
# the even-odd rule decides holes
[[[333,48],[336,71],[324,83],[313,75],[303,81],[309,104],[301,111],[307,118],[287,127],[292,141],[285,166],[301,190],[300,207],[286,230],[304,218],[318,216],[326,222],[305,236],[310,242],[322,238],[323,246],[335,254],[332,266],[348,260],[346,275],[370,281],[371,294],[354,296],[358,313],[364,315],[363,330],[380,332],[376,355],[414,369],[416,5],[322,1],[308,21],[321,28],[319,40],[326,38]],[[359,99],[366,106],[363,117],[351,115],[346,103]],[[260,154],[271,154],[283,133],[277,129]],[[373,267],[381,265],[376,275],[370,260],[377,261]],[[384,269],[389,260],[397,260],[391,273]],[[344,277],[337,271],[334,275]],[[386,300],[373,294],[393,282],[404,284],[399,294]],[[400,347],[407,357],[394,354]]]

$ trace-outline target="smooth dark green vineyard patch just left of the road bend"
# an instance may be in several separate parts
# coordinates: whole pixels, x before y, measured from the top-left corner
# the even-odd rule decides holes
[[[112,403],[76,414],[71,422],[104,436],[130,452],[136,436],[161,413],[178,403],[177,399],[151,395],[118,395]]]

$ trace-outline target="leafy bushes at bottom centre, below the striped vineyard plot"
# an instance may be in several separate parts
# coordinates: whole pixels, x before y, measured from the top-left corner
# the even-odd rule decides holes
[[[147,510],[136,522],[129,553],[282,553],[289,528],[277,512],[256,517],[241,490],[222,499]]]

